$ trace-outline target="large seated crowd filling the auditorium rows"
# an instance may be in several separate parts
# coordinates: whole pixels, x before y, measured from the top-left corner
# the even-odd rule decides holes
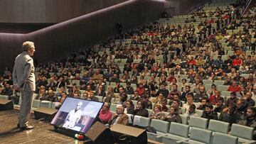
[[[39,64],[35,99],[58,102],[58,109],[66,96],[92,101],[102,96],[100,119],[110,125],[127,125],[127,113],[182,123],[181,114],[189,119],[202,110],[202,118],[256,130],[256,17],[241,16],[241,9],[193,13],[202,20],[197,28],[191,24],[196,19],[178,25],[151,23],[84,52],[73,52],[60,62]],[[243,29],[227,33],[238,27]],[[221,40],[232,55],[225,55]],[[205,80],[210,80],[210,87]],[[11,89],[8,68],[0,81],[1,94],[19,96]],[[222,95],[220,85],[228,86],[225,91],[230,96]],[[111,104],[117,104],[117,111],[110,111]]]

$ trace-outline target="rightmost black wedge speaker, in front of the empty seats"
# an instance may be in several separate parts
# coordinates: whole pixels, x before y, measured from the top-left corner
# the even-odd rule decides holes
[[[146,130],[134,128],[132,126],[124,126],[120,124],[113,125],[110,130],[114,134],[114,138],[118,138],[117,143],[144,144],[147,143]]]

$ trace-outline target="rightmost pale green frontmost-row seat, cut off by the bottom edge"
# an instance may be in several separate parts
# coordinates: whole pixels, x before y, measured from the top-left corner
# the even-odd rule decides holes
[[[216,132],[213,136],[212,144],[219,144],[219,143],[237,144],[238,137]]]

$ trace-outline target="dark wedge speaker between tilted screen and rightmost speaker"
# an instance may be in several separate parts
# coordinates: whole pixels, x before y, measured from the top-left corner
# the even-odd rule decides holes
[[[94,144],[112,144],[114,143],[114,135],[112,135],[110,128],[104,124],[96,121],[90,129],[85,133]]]

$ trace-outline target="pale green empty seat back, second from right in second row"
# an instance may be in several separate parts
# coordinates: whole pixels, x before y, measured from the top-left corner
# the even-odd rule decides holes
[[[228,133],[229,123],[223,121],[217,121],[210,119],[208,130],[219,132],[219,133]]]

